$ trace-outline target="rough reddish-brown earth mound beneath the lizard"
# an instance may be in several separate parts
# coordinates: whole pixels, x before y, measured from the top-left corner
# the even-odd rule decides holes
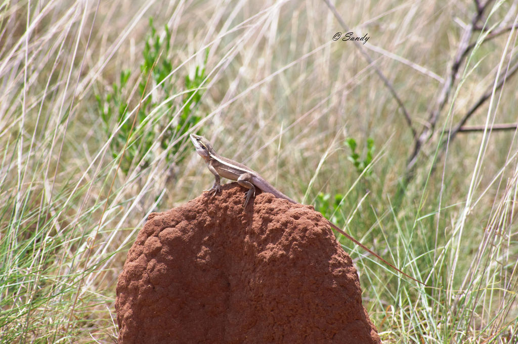
[[[313,207],[244,188],[149,216],[117,283],[119,344],[380,343]]]

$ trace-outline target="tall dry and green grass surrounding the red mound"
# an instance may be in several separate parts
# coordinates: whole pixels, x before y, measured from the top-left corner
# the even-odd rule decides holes
[[[429,127],[474,2],[336,6]],[[147,214],[212,183],[191,132],[431,286],[339,237],[384,343],[518,342],[516,132],[443,132],[487,90],[466,124],[516,122],[516,31],[469,51],[408,178],[412,131],[325,2],[14,2],[0,27],[0,342],[116,342]]]

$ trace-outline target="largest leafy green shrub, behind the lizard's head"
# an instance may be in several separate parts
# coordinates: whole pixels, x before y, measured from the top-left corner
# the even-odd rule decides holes
[[[137,113],[131,114],[126,96],[126,86],[129,86],[128,80],[131,77],[129,69],[121,71],[118,82],[112,84],[106,96],[96,95],[106,134],[111,135],[113,125],[119,126],[110,142],[110,148],[113,158],[117,158],[126,147],[121,162],[121,170],[125,174],[136,163],[140,168],[149,166],[157,154],[152,146],[161,132],[164,134],[160,136],[160,148],[167,150],[165,162],[179,163],[185,157],[181,151],[184,141],[173,142],[178,137],[186,137],[185,133],[202,119],[202,116],[196,114],[196,110],[203,96],[201,86],[206,81],[205,66],[209,51],[206,51],[202,66],[196,67],[194,76],[185,76],[184,88],[178,89],[172,79],[173,67],[168,58],[171,52],[169,28],[165,25],[164,35],[161,37],[152,18],[149,26],[150,34],[142,51],[140,64],[142,77],[135,96],[135,99],[141,99]],[[156,87],[156,92],[149,94],[153,87]],[[179,108],[180,114],[172,122],[171,115],[177,113]]]

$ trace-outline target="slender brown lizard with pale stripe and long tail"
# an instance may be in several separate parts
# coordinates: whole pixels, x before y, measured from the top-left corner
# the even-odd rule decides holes
[[[256,188],[260,189],[263,192],[269,192],[272,195],[274,195],[277,198],[281,198],[284,200],[287,200],[291,203],[298,204],[295,200],[291,199],[290,197],[287,197],[276,189],[273,185],[268,183],[265,178],[263,178],[259,173],[255,172],[251,168],[247,167],[246,165],[239,163],[237,161],[234,161],[232,159],[225,158],[219,154],[217,154],[214,151],[214,148],[210,144],[209,140],[204,138],[203,136],[199,136],[196,134],[190,134],[191,141],[194,145],[194,148],[196,149],[196,153],[198,153],[199,156],[201,156],[205,162],[207,163],[207,167],[209,171],[214,175],[214,184],[212,185],[212,188],[209,191],[212,193],[212,195],[216,195],[217,193],[221,192],[221,177],[227,178],[232,181],[237,181],[239,185],[245,187],[248,189],[245,193],[245,201],[243,209],[247,207],[248,203],[251,199],[255,197],[255,191]],[[326,219],[327,220],[327,219]],[[331,226],[334,230],[336,230],[338,233],[342,234],[343,236],[347,237],[350,241],[358,245],[359,247],[363,248],[367,252],[369,252],[371,255],[378,258],[380,261],[385,263],[386,265],[392,267],[394,270],[399,272],[400,274],[418,282],[421,283],[423,286],[427,286],[422,281],[402,272],[397,267],[395,267],[393,264],[389,263],[385,259],[381,258],[376,252],[369,249],[367,246],[363,245],[359,241],[357,241],[355,238],[353,238],[351,235],[347,234],[345,231],[340,229],[338,226],[336,226],[333,222],[327,220],[329,223],[329,226]]]

